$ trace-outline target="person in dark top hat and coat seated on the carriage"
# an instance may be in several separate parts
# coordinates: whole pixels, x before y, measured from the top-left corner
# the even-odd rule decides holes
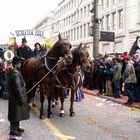
[[[27,40],[25,37],[22,39],[21,46],[17,49],[17,55],[25,60],[34,56],[32,49],[27,45]]]

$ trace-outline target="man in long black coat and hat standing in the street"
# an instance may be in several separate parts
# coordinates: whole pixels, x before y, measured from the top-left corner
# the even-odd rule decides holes
[[[10,135],[21,136],[24,129],[19,127],[22,120],[29,119],[27,93],[23,77],[19,71],[21,58],[14,56],[12,67],[8,69],[7,80],[9,86],[8,120]]]

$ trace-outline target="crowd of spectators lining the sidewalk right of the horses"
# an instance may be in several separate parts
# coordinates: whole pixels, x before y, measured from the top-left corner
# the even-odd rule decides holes
[[[115,98],[125,94],[126,104],[140,101],[140,54],[129,56],[124,52],[118,58],[99,55],[92,65],[90,72],[84,72],[83,87]]]

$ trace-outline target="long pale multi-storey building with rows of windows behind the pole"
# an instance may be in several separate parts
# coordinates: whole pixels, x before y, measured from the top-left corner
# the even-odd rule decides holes
[[[93,0],[61,1],[53,10],[54,18],[50,26],[54,42],[58,33],[61,33],[73,46],[81,42],[87,43],[90,55],[93,56],[93,36],[91,36],[93,3]],[[115,32],[114,42],[99,42],[99,53],[129,51],[136,36],[140,35],[140,0],[99,0],[99,4],[101,5],[99,13],[102,15],[100,31]],[[44,22],[42,26],[47,24]]]

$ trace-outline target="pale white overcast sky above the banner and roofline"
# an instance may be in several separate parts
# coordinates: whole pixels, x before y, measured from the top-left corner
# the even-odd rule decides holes
[[[32,29],[62,0],[0,0],[0,44],[9,41],[9,33]]]

